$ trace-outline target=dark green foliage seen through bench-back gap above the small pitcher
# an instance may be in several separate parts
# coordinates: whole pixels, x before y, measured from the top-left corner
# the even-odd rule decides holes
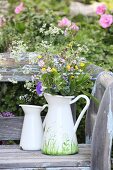
[[[22,96],[20,100],[20,96]],[[28,97],[29,96],[29,97]],[[14,115],[23,115],[19,104],[43,105],[44,98],[33,95],[24,88],[24,83],[0,83],[0,112],[12,112]]]

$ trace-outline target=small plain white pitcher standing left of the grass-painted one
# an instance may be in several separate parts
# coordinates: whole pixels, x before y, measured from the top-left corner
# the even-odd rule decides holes
[[[19,105],[22,107],[25,117],[20,139],[20,147],[23,150],[40,150],[43,137],[43,126],[40,113],[47,106]]]

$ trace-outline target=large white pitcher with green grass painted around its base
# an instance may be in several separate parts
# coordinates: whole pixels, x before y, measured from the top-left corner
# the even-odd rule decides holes
[[[42,153],[50,155],[67,155],[78,152],[76,130],[90,104],[85,95],[59,96],[44,94],[48,102],[48,113],[44,121],[44,136]],[[86,105],[80,113],[75,125],[71,113],[70,104],[84,98]],[[73,100],[72,100],[73,99]]]

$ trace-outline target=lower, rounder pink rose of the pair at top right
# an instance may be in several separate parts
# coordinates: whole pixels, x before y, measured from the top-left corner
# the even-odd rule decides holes
[[[101,25],[102,28],[108,28],[112,25],[112,23],[113,23],[112,15],[108,15],[108,14],[101,15],[99,24]]]

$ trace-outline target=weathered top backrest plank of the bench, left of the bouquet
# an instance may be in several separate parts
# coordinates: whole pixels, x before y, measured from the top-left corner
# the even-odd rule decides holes
[[[30,64],[28,60],[29,58],[25,56],[22,61],[16,62],[13,58],[10,58],[10,53],[0,53],[0,74],[2,76],[0,81],[7,82],[10,79],[14,79],[17,82],[31,81],[31,75],[38,73],[38,67],[35,64]],[[23,66],[29,67],[30,73],[25,75]]]

